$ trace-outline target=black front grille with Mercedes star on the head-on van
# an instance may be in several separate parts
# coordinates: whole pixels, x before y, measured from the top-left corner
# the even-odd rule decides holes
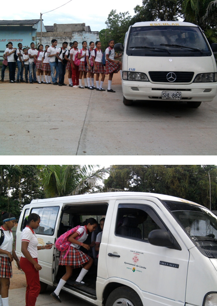
[[[173,73],[172,77],[170,73]],[[149,76],[153,82],[158,83],[190,83],[194,77],[194,72],[150,71]],[[172,81],[173,79],[174,81]]]

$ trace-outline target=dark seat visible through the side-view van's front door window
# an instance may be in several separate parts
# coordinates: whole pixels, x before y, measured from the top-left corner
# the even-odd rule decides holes
[[[138,228],[139,221],[134,217],[125,217],[122,226],[117,229],[117,234],[133,238],[142,238],[141,230]]]

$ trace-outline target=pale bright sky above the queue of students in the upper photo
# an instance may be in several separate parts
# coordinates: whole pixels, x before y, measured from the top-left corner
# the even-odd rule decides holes
[[[45,13],[53,10],[68,0],[58,1],[17,1],[11,0],[9,7],[0,10],[0,20],[29,20],[40,19],[40,13]],[[75,3],[79,3],[79,6],[75,9]],[[43,14],[44,26],[53,26],[53,24],[83,24],[90,26],[91,31],[100,31],[106,28],[106,20],[112,9],[116,10],[116,13],[129,11],[130,15],[134,15],[133,8],[139,4],[142,5],[142,0],[136,1],[100,1],[98,4],[92,4],[92,1],[76,1],[71,0],[66,5],[50,12]],[[81,8],[80,8],[81,7]],[[79,9],[80,8],[80,9]]]

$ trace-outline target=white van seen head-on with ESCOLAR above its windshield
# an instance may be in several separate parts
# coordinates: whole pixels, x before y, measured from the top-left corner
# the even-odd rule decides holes
[[[199,26],[186,22],[140,22],[130,26],[123,51],[124,104],[133,100],[181,100],[190,107],[217,94],[217,65]]]

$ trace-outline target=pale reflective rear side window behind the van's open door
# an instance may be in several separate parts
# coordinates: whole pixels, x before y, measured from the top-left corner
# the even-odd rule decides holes
[[[41,217],[40,226],[35,230],[36,234],[53,235],[59,206],[33,208],[31,213],[37,213]]]

